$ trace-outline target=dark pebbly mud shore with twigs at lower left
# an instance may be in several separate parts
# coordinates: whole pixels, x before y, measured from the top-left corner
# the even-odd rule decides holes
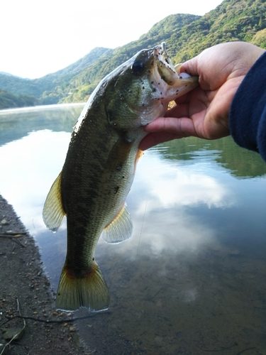
[[[69,322],[73,313],[55,310],[55,294],[35,240],[1,195],[0,285],[0,355],[86,354]],[[7,345],[16,334],[21,339]]]

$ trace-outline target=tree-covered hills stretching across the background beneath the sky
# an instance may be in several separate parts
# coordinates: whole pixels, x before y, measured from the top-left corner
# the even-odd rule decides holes
[[[142,48],[165,41],[174,63],[184,62],[211,45],[245,40],[266,48],[266,0],[224,0],[204,16],[175,14],[156,23],[138,40],[114,50],[94,48],[69,67],[40,79],[0,74],[0,90],[30,95],[39,104],[84,102],[111,70]],[[0,102],[0,108],[1,102]]]

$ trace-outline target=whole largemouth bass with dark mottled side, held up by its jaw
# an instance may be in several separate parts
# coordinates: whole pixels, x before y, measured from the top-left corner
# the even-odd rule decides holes
[[[100,236],[110,244],[130,238],[126,197],[142,154],[138,146],[147,134],[143,127],[197,84],[198,77],[174,68],[164,42],[140,50],[106,75],[89,97],[43,207],[43,220],[53,232],[67,216],[57,309],[108,309],[109,290],[95,261],[96,244]]]

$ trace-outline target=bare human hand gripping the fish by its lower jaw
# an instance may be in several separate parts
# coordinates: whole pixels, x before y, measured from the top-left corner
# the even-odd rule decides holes
[[[245,42],[215,45],[185,62],[181,72],[199,75],[199,87],[179,97],[176,106],[145,126],[148,136],[140,142],[145,150],[174,138],[196,136],[216,139],[230,135],[231,102],[250,67],[265,52]]]

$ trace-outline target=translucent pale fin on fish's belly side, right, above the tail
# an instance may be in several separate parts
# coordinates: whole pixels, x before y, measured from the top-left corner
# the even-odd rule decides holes
[[[102,237],[106,243],[118,244],[121,241],[131,237],[133,231],[133,224],[131,222],[131,217],[126,209],[126,204],[118,213],[115,219],[105,227],[102,232]]]

